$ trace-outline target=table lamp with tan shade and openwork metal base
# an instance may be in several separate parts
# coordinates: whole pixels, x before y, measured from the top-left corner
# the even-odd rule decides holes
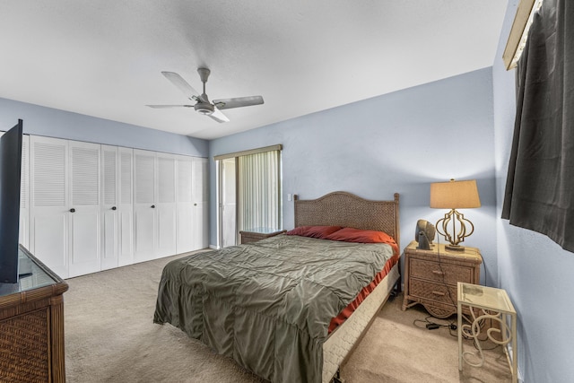
[[[476,180],[455,181],[450,179],[449,182],[431,183],[431,207],[450,209],[443,218],[437,221],[437,231],[450,243],[445,248],[463,251],[465,248],[459,243],[474,232],[474,225],[473,222],[465,219],[463,213],[457,212],[457,209],[481,207]],[[449,231],[448,225],[451,222],[452,228]]]

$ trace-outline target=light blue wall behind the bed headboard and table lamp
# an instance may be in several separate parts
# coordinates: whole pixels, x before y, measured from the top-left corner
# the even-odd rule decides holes
[[[404,248],[418,219],[436,222],[446,213],[429,207],[431,182],[476,178],[483,207],[464,211],[475,226],[464,245],[481,249],[483,282],[496,283],[492,113],[486,68],[210,141],[210,243],[217,244],[213,155],[283,144],[285,229],[293,226],[288,193],[392,199],[398,192]]]

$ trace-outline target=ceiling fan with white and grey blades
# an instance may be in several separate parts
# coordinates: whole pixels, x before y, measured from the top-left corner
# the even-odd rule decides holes
[[[201,82],[204,83],[204,92],[201,94],[189,85],[189,83],[187,83],[187,81],[179,74],[176,74],[175,72],[161,72],[161,74],[170,80],[170,82],[173,83],[180,91],[183,91],[189,100],[196,101],[195,105],[148,105],[148,107],[193,108],[196,109],[197,112],[213,118],[217,122],[229,122],[230,119],[222,113],[222,109],[241,108],[263,104],[263,97],[261,96],[236,97],[233,99],[213,100],[213,102],[210,102],[207,94],[205,93],[205,83],[207,83],[207,78],[211,71],[207,68],[198,68],[197,72],[199,73]]]

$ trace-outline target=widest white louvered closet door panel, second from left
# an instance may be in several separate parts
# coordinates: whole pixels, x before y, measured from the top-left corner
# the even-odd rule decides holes
[[[30,136],[30,251],[62,278],[68,274],[68,145]]]

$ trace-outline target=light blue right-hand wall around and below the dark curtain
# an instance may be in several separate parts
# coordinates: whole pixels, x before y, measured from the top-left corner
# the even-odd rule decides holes
[[[518,0],[509,1],[500,34],[502,57]],[[516,113],[515,70],[494,62],[497,217],[500,217]],[[574,254],[534,231],[497,220],[500,287],[518,313],[518,370],[525,382],[564,382],[574,377],[570,319],[574,317]]]

